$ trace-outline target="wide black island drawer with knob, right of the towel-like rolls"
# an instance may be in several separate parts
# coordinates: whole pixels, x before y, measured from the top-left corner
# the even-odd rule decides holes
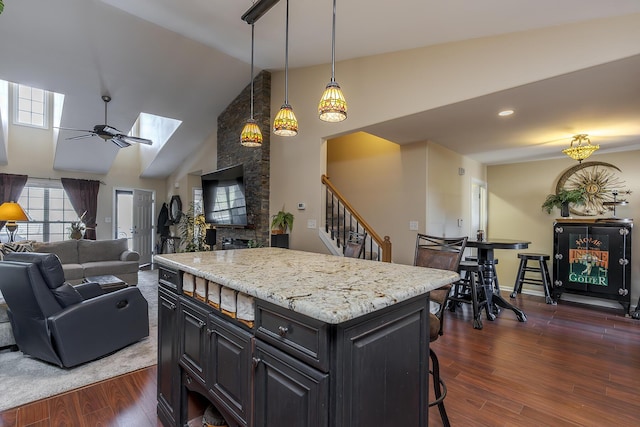
[[[327,324],[260,301],[256,335],[311,366],[328,370]]]

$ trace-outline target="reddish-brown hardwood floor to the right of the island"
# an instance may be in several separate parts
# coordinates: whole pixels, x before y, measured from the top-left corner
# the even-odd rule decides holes
[[[445,314],[432,345],[453,426],[640,425],[640,321],[531,295],[516,305],[526,323],[502,311],[474,330],[470,307]],[[429,425],[442,425],[435,408]]]

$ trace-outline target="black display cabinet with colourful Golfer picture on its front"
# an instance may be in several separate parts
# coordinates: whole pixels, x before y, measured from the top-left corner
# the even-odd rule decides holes
[[[553,294],[631,301],[631,220],[557,220],[553,225]]]

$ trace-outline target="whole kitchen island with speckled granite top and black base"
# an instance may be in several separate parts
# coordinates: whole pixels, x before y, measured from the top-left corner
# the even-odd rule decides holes
[[[457,273],[280,248],[156,256],[158,415],[427,426],[429,304]]]

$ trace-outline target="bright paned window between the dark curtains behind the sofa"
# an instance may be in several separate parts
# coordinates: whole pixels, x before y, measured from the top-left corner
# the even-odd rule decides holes
[[[18,223],[16,232],[24,240],[58,242],[68,239],[71,222],[78,221],[61,184],[42,185],[27,181],[22,190],[20,206],[31,221]],[[17,240],[17,238],[16,238]]]

